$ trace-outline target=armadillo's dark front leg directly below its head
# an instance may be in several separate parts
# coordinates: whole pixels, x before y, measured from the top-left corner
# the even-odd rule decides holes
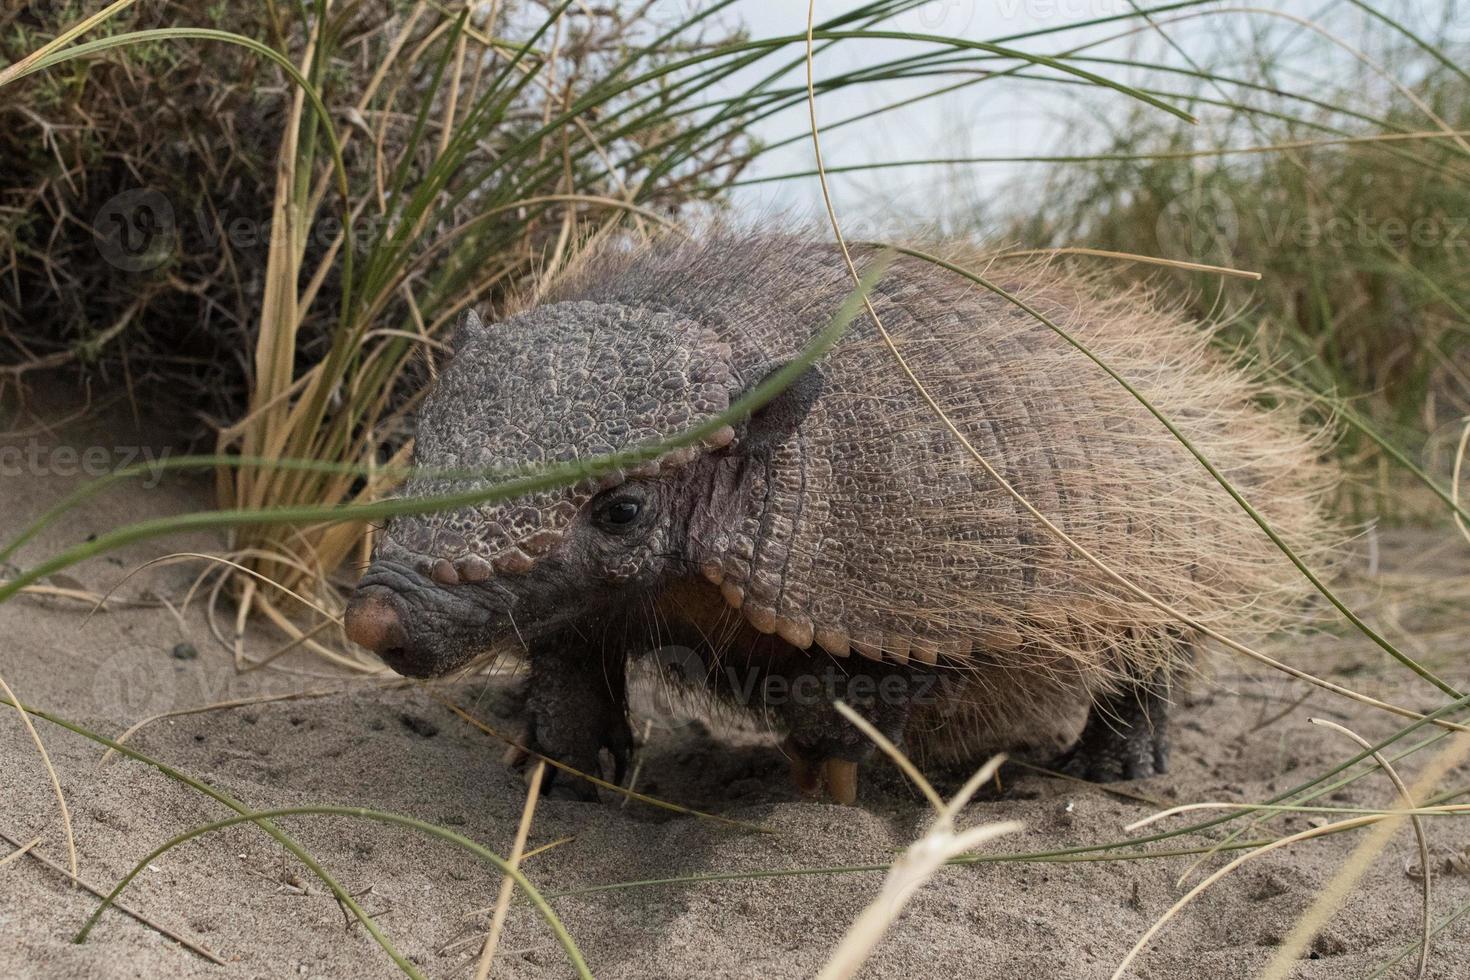
[[[601,752],[613,758],[613,782],[620,783],[634,741],[628,727],[626,663],[620,652],[572,635],[537,641],[528,655],[525,745],[579,773],[601,777]],[[597,786],[547,770],[550,796],[595,801]]]

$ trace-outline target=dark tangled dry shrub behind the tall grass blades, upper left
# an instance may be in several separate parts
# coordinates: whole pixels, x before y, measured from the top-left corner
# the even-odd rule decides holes
[[[196,408],[206,423],[237,420],[257,383],[250,354],[269,285],[278,165],[319,181],[331,156],[326,129],[343,143],[347,195],[334,187],[323,197],[316,188],[316,210],[291,215],[309,219],[297,228],[303,237],[298,287],[304,291],[304,276],[325,266],[313,301],[303,303],[310,307],[301,313],[295,338],[303,369],[325,357],[341,314],[344,270],[331,262],[334,254],[337,263],[345,257],[340,245],[331,251],[337,226],[350,213],[354,251],[378,244],[384,226],[401,216],[407,197],[445,153],[451,156],[442,167],[478,160],[482,182],[487,162],[501,150],[514,147],[520,154],[514,162],[520,169],[507,170],[512,187],[506,192],[500,184],[507,173],[488,188],[465,187],[457,175],[454,187],[438,185],[442,204],[453,209],[432,217],[459,223],[479,216],[482,226],[473,238],[482,247],[512,229],[520,237],[510,238],[517,250],[503,260],[522,266],[554,244],[569,220],[589,223],[626,213],[634,201],[672,213],[717,191],[723,167],[744,157],[739,134],[732,132],[728,141],[686,154],[684,173],[650,178],[651,162],[629,163],[629,147],[682,135],[685,128],[676,122],[648,115],[625,120],[631,125],[616,134],[612,126],[598,132],[588,119],[545,126],[554,107],[606,79],[623,59],[631,59],[623,73],[644,73],[653,56],[634,57],[634,46],[659,37],[660,25],[570,10],[564,26],[539,37],[542,47],[519,51],[544,19],[539,6],[479,3],[463,25],[457,24],[459,6],[448,13],[441,6],[397,0],[6,4],[0,63],[21,62],[98,9],[101,16],[74,44],[132,38],[94,57],[59,60],[15,78],[0,101],[0,172],[6,175],[0,188],[0,351],[12,369],[7,373],[79,366],[101,385],[118,382],[150,401]],[[706,37],[700,24],[672,26],[676,37],[663,38],[659,57],[676,59],[728,40],[713,31]],[[329,119],[298,110],[297,79],[244,41],[301,65]],[[500,78],[512,62],[514,69]],[[503,104],[485,101],[491,82],[498,82],[495,96]],[[457,91],[450,97],[453,84]],[[476,97],[482,104],[472,109]],[[420,120],[423,109],[429,116]],[[460,123],[478,129],[460,132]],[[450,145],[451,134],[478,147]],[[592,141],[616,153],[620,166],[612,166],[612,156],[588,165],[584,157]],[[282,160],[291,147],[295,157]],[[522,159],[526,150],[531,163]],[[573,187],[566,182],[564,156],[578,162]],[[556,192],[588,200],[490,213],[517,195]],[[607,200],[592,200],[603,194]],[[457,257],[444,251],[453,241],[445,234],[450,226],[434,226],[428,217],[423,223],[416,254],[437,270]],[[400,238],[403,244],[413,237]],[[434,241],[442,254],[429,263]],[[269,269],[272,275],[290,272]],[[495,295],[514,288],[516,272],[497,281],[510,285],[500,285]],[[437,309],[434,291],[419,287],[420,269],[409,282],[425,294],[415,297],[420,313],[423,304]],[[390,307],[384,320],[403,326],[413,317]],[[210,441],[198,438],[204,430],[194,430],[197,444]]]

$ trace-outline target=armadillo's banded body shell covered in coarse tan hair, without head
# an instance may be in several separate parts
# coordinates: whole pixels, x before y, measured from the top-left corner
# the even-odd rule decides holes
[[[1289,386],[1211,344],[1213,328],[1045,259],[925,247],[1070,332],[1170,419],[1311,567],[1344,539],[1326,511],[1330,432]],[[858,253],[861,262],[873,253]],[[742,383],[795,356],[853,289],[833,245],[717,231],[606,248],[547,301],[669,311],[728,344]],[[1139,401],[1047,325],[903,257],[872,292],[914,373],[1042,514],[1133,585],[1232,636],[1307,620],[1311,586]],[[867,317],[769,485],[709,542],[706,574],[763,632],[838,655],[966,669],[1004,716],[1179,670],[1189,629],[1055,539],[898,372]]]

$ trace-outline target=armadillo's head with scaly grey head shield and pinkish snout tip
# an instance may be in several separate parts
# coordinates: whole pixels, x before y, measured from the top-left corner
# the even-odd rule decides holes
[[[454,347],[420,414],[420,476],[406,495],[644,447],[719,414],[751,383],[735,378],[731,348],[711,334],[610,304],[553,304],[492,326],[470,316]],[[723,428],[632,472],[394,517],[347,633],[400,673],[434,676],[498,641],[529,642],[642,601],[688,566],[691,513],[709,501],[713,467],[734,442]]]

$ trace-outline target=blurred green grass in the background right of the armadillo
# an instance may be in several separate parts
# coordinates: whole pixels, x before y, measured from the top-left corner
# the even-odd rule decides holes
[[[1095,150],[1051,166],[1026,195],[1035,207],[991,209],[982,223],[1028,245],[1263,273],[1117,266],[1445,478],[1470,414],[1470,81],[1404,46],[1414,81],[1388,94],[1367,79],[1283,91],[1266,62],[1148,65],[1152,91],[1177,93],[1207,125],[1132,112],[1095,134]],[[1373,494],[1355,510],[1396,510],[1401,480],[1382,445],[1347,426],[1341,448],[1376,475],[1360,480]]]

